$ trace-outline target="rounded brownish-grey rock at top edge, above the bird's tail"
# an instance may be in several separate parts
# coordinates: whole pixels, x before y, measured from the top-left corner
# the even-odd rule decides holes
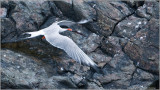
[[[36,31],[51,12],[48,2],[25,1],[15,2],[12,10],[12,18],[16,22],[16,28],[20,31]]]

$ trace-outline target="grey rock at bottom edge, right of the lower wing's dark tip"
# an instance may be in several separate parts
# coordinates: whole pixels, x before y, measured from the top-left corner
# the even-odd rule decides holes
[[[123,52],[119,52],[103,67],[104,74],[95,73],[93,78],[101,82],[105,89],[126,89],[135,70],[133,62]]]

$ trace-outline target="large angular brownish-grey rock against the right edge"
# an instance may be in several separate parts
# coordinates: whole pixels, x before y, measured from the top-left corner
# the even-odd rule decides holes
[[[139,68],[158,74],[158,20],[152,18],[145,28],[141,29],[127,43],[124,50]],[[152,52],[152,53],[151,53]]]

